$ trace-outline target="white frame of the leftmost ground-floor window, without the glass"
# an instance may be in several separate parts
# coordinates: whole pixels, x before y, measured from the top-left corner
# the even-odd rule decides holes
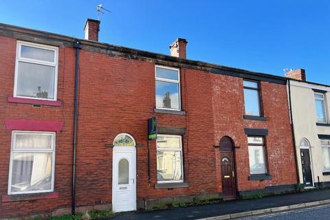
[[[52,147],[51,148],[20,148],[15,149],[14,144],[16,143],[17,134],[46,134],[52,135]],[[54,179],[55,179],[55,144],[56,144],[56,132],[50,131],[12,131],[12,144],[10,151],[10,165],[9,165],[9,175],[8,175],[8,195],[20,195],[29,193],[40,193],[40,192],[54,192]],[[23,192],[12,192],[12,159],[14,153],[52,153],[52,186],[50,190],[30,190]]]

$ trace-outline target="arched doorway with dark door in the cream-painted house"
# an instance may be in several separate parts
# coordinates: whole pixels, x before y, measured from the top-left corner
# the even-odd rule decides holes
[[[313,175],[311,172],[311,154],[309,142],[306,138],[300,140],[300,159],[304,185],[307,187],[313,187],[314,184]]]

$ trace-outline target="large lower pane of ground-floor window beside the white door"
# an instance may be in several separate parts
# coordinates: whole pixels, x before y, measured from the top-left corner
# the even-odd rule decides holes
[[[157,151],[157,180],[182,180],[180,151]]]

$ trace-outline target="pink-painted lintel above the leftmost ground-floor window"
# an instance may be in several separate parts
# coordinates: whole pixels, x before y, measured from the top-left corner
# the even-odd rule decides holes
[[[37,120],[5,120],[5,127],[8,130],[23,131],[61,131],[63,122],[58,121],[37,121]]]

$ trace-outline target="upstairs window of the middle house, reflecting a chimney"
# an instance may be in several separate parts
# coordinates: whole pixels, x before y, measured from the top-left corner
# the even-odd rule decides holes
[[[179,69],[156,66],[156,108],[181,109]]]

